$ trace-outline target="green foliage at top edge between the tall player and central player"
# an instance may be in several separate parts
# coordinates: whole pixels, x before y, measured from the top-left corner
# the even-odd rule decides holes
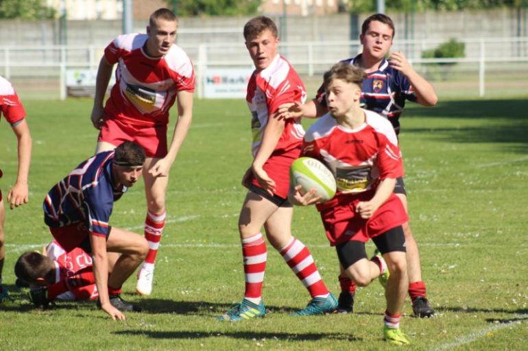
[[[167,7],[174,3],[178,16],[243,16],[256,14],[262,0],[167,0]]]

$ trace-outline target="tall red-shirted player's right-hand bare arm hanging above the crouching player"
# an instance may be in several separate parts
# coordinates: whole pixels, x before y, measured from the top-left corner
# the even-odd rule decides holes
[[[149,173],[154,177],[167,177],[169,175],[171,166],[178,155],[178,151],[180,151],[185,137],[187,137],[187,132],[193,120],[193,93],[182,90],[178,92],[177,96],[178,121],[176,122],[176,127],[174,127],[171,146],[167,156],[159,159],[150,168]]]

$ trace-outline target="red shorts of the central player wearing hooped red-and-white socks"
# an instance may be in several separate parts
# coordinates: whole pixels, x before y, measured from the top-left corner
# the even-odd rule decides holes
[[[275,195],[287,198],[289,192],[289,166],[300,156],[300,147],[281,153],[272,153],[264,164],[264,170],[269,178],[275,182]],[[259,182],[252,177],[251,183],[261,187]]]

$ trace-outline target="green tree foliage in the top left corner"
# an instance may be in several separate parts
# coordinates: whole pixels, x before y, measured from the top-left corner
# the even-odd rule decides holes
[[[45,0],[0,0],[0,18],[53,18],[55,10]]]

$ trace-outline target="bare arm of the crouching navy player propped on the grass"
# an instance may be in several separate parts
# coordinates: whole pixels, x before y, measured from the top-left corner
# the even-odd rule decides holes
[[[93,250],[93,274],[95,285],[99,291],[101,309],[108,313],[112,320],[125,320],[125,315],[110,304],[108,296],[108,258],[106,253],[106,237],[90,233],[90,243]]]

